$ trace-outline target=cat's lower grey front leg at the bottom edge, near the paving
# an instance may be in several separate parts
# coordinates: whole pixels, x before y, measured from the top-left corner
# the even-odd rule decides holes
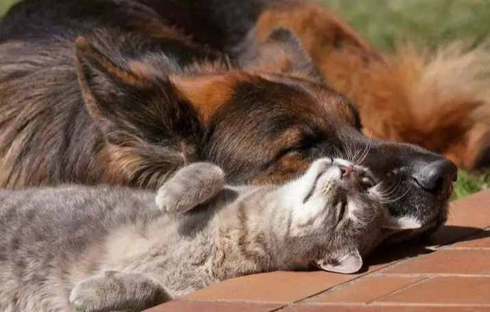
[[[106,271],[90,276],[73,287],[70,302],[76,311],[143,311],[171,296],[145,274]]]

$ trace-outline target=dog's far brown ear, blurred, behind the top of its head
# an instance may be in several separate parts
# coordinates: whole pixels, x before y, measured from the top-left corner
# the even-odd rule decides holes
[[[243,48],[238,57],[238,66],[275,73],[301,73],[321,79],[319,70],[299,38],[285,27],[273,29],[265,41]]]

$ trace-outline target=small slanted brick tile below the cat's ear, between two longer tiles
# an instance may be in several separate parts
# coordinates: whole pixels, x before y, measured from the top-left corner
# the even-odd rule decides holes
[[[332,289],[308,302],[367,303],[421,281],[420,277],[373,276]]]

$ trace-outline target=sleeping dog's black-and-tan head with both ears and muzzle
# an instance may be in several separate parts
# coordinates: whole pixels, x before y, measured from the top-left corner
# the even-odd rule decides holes
[[[446,218],[456,166],[363,135],[354,105],[321,81],[286,29],[245,53],[238,70],[223,62],[206,73],[179,72],[161,53],[137,60],[108,53],[77,40],[86,108],[125,180],[158,187],[173,157],[176,165],[214,162],[230,183],[282,183],[315,159],[342,157],[367,170],[404,229],[433,229]]]

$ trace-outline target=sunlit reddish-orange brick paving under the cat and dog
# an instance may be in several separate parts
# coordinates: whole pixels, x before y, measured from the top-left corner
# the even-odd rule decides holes
[[[426,246],[384,248],[367,263],[360,274],[234,278],[148,312],[490,312],[490,190],[452,203]]]

